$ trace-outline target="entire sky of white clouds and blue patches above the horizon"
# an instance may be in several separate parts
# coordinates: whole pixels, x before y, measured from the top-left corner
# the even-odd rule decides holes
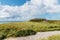
[[[31,18],[60,20],[60,0],[0,0],[0,21]]]

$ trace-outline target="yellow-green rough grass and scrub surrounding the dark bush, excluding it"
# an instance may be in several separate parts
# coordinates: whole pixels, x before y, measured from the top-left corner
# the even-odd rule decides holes
[[[59,22],[13,22],[0,24],[0,38],[16,37],[20,30],[33,30],[35,32],[60,31]]]

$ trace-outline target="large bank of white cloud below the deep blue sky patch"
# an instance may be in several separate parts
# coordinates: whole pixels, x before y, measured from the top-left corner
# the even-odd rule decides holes
[[[57,0],[31,0],[22,6],[0,5],[0,18],[27,20],[45,13],[60,13]]]

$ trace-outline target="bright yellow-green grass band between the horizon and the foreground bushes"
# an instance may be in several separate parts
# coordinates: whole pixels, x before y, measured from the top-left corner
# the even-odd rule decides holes
[[[60,30],[60,23],[48,23],[48,22],[14,22],[14,23],[6,23],[0,24],[0,30],[5,29],[31,29],[36,32],[44,32],[44,31],[57,31]]]

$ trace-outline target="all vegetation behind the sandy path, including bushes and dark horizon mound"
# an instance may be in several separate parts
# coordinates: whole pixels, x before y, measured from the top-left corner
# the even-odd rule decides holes
[[[37,19],[36,21],[0,24],[0,40],[7,37],[34,35],[36,32],[45,31],[60,31],[60,21]]]

